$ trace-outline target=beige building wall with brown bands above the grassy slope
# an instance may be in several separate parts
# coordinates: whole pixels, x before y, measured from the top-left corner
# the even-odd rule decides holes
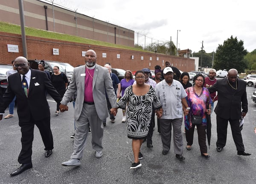
[[[58,6],[53,7],[53,18],[52,5],[40,0],[23,0],[23,7],[25,26],[27,27],[125,46],[134,46],[133,30]],[[47,7],[47,9],[44,7]],[[0,0],[0,21],[20,25],[18,0]]]

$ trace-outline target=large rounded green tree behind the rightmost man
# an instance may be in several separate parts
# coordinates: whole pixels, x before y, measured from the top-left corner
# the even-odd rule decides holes
[[[247,68],[244,56],[247,50],[244,49],[244,42],[238,41],[237,38],[231,36],[224,41],[223,45],[218,45],[215,54],[214,68],[215,69],[232,69],[235,68],[238,72],[244,72]]]

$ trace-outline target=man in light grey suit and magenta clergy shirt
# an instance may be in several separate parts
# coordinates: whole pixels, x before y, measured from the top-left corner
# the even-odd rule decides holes
[[[102,157],[102,120],[108,117],[108,106],[105,90],[111,103],[111,113],[116,115],[116,95],[108,69],[96,64],[97,56],[93,50],[85,54],[86,65],[74,68],[73,75],[67,91],[62,98],[60,110],[68,110],[67,103],[77,92],[74,107],[76,135],[74,151],[69,161],[63,162],[63,166],[79,166],[83,157],[83,150],[87,138],[89,124],[92,132],[92,147],[96,150],[96,157]]]

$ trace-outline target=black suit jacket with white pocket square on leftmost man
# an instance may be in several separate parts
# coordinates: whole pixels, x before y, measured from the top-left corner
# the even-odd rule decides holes
[[[56,102],[60,102],[62,99],[56,89],[52,86],[46,73],[40,70],[31,69],[28,97],[26,97],[21,86],[19,73],[10,75],[8,82],[7,90],[3,95],[4,109],[9,106],[16,95],[17,114],[20,122],[28,122],[31,118],[39,121],[50,116],[45,91],[47,91]]]

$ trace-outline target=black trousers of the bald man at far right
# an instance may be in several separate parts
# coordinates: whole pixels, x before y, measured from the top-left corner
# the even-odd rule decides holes
[[[237,151],[244,151],[244,144],[243,144],[243,139],[239,127],[239,119],[237,120],[227,120],[224,118],[219,117],[218,115],[216,116],[217,118],[217,142],[216,146],[217,147],[224,147],[226,145],[227,141],[227,124],[228,121],[230,122],[230,127],[233,135],[233,140],[236,144],[236,150]]]

